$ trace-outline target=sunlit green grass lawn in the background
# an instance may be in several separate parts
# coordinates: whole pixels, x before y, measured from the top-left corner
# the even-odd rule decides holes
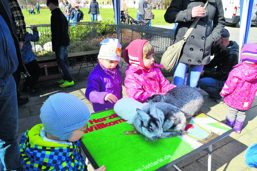
[[[88,8],[80,8],[80,10],[84,13],[83,21],[91,21],[90,15],[87,16]],[[40,9],[40,15],[36,14],[29,15],[26,10],[22,10],[26,25],[36,25],[36,24],[50,24],[51,12],[49,9]],[[114,11],[113,8],[99,8],[99,12],[102,16],[103,21],[110,20],[113,21]],[[169,24],[164,20],[164,14],[166,10],[152,10],[154,14],[154,19],[152,20],[152,25],[162,25]],[[137,9],[128,8],[128,14],[136,19]]]

